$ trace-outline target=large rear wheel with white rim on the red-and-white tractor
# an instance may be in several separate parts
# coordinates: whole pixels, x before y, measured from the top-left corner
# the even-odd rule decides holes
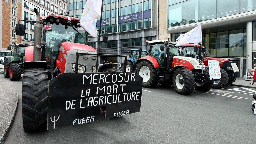
[[[145,71],[143,73],[143,71],[141,70],[141,68],[148,68],[149,71]],[[156,86],[158,84],[158,74],[157,74],[157,70],[156,68],[148,61],[141,61],[136,68],[136,72],[138,74],[140,74],[140,76],[143,78],[142,81],[142,87],[144,88],[152,88],[154,86]],[[146,81],[145,78],[148,79],[148,81]]]

